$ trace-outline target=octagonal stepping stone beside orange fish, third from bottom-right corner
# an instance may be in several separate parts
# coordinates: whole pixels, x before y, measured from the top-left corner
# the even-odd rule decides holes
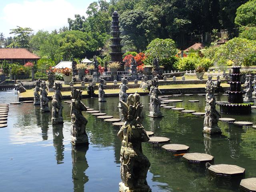
[[[182,157],[188,160],[190,163],[206,163],[212,162],[214,159],[214,156],[208,155],[206,153],[186,153]]]

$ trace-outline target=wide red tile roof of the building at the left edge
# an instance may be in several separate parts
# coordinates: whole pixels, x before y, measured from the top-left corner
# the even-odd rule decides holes
[[[0,59],[40,59],[25,48],[0,48]]]

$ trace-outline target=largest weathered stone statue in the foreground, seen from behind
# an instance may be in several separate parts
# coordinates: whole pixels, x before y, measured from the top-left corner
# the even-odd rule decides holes
[[[148,158],[142,152],[142,142],[149,140],[146,130],[141,124],[141,112],[143,106],[138,94],[130,94],[127,103],[120,100],[124,125],[118,132],[122,141],[121,156],[121,179],[120,192],[151,192],[146,181],[150,167]]]

